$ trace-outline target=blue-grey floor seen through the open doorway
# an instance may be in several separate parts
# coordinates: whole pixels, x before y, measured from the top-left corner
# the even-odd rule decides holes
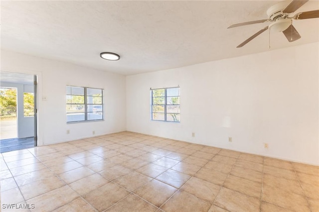
[[[0,140],[0,153],[34,147],[34,137]]]

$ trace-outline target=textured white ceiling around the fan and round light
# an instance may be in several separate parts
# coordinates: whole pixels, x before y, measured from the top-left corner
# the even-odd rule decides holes
[[[227,29],[267,18],[279,1],[1,1],[1,48],[122,75],[152,72],[319,41],[319,18],[294,20],[302,38],[289,43],[268,25]],[[287,2],[287,4],[290,1]],[[311,0],[299,11],[319,9]],[[294,13],[294,14],[295,14]],[[106,61],[100,53],[121,55]]]

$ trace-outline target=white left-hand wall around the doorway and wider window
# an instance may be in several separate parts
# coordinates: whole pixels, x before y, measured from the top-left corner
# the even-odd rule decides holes
[[[39,145],[126,129],[124,76],[5,50],[1,50],[1,71],[38,76]],[[105,120],[67,124],[66,85],[104,89]]]

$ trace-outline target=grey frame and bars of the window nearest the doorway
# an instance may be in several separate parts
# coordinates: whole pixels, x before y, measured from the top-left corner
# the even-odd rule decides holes
[[[104,121],[104,101],[103,101],[103,92],[104,92],[104,89],[101,89],[101,88],[91,88],[91,87],[83,87],[83,86],[70,86],[70,85],[67,85],[66,86],[66,88],[67,87],[70,87],[70,88],[72,88],[72,87],[74,87],[74,88],[83,88],[84,89],[84,91],[83,91],[83,95],[78,95],[78,94],[75,94],[75,95],[73,95],[72,94],[72,92],[71,92],[71,94],[68,94],[67,92],[66,92],[66,98],[67,98],[67,96],[83,96],[83,98],[84,98],[84,103],[82,104],[82,103],[67,103],[67,101],[66,101],[66,106],[68,106],[68,105],[84,105],[84,120],[76,120],[76,121],[68,121],[67,120],[67,117],[66,117],[66,123],[67,124],[69,124],[69,123],[79,123],[79,122],[92,122],[92,121]],[[96,90],[101,90],[101,104],[91,104],[91,103],[88,103],[88,101],[87,101],[87,98],[88,97],[93,97],[92,95],[87,95],[87,89],[96,89]],[[88,114],[89,113],[91,113],[90,111],[88,111],[88,106],[102,106],[102,111],[99,111],[99,112],[102,112],[102,118],[100,118],[100,119],[88,119]],[[92,109],[93,110],[93,109]],[[76,112],[68,112],[68,110],[66,109],[66,116],[68,115],[68,114],[70,114],[70,113],[76,113]],[[81,112],[82,113],[82,112]]]

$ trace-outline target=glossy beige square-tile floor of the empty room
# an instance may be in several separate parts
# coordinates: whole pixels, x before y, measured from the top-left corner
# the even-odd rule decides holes
[[[0,157],[3,212],[319,211],[318,166],[139,133]]]

